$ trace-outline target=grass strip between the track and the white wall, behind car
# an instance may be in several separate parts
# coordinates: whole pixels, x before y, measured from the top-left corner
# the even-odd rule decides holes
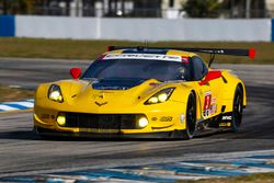
[[[106,52],[107,45],[137,46],[140,42],[72,41],[43,38],[0,38],[0,57],[94,59]],[[255,60],[246,57],[217,56],[216,62],[274,64],[274,43],[236,42],[157,42],[149,46],[256,48]],[[208,60],[208,55],[201,55]]]

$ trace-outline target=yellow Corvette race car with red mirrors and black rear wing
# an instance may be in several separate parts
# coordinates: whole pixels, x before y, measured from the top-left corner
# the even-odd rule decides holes
[[[208,66],[194,53],[209,54]],[[72,68],[73,79],[37,88],[34,131],[182,139],[237,131],[246,88],[232,71],[210,69],[216,54],[254,58],[255,50],[110,46],[83,75]]]

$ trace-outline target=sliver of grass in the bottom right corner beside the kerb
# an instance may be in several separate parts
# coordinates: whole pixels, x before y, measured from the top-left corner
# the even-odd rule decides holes
[[[274,173],[255,173],[243,176],[207,179],[199,181],[178,181],[176,183],[273,183]]]

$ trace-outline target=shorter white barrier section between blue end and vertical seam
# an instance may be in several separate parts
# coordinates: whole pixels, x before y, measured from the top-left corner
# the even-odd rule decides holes
[[[34,38],[96,38],[94,19],[64,16],[26,16],[15,18],[16,37]]]

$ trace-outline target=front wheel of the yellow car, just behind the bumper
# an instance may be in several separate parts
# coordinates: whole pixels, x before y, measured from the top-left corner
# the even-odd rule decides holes
[[[185,113],[186,129],[183,130],[183,139],[191,139],[196,130],[196,98],[191,93],[187,101]]]

